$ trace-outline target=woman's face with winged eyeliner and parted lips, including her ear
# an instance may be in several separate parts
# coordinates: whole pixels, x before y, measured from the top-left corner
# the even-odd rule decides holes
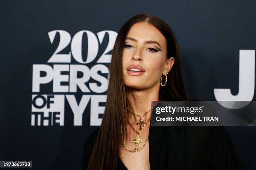
[[[174,63],[173,57],[166,59],[166,53],[166,39],[158,29],[147,23],[134,24],[123,49],[125,85],[136,89],[159,86],[161,75],[168,73]]]

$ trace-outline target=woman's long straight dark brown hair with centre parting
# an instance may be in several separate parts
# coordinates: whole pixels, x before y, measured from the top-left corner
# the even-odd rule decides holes
[[[115,170],[121,141],[121,124],[128,115],[128,100],[123,81],[122,55],[125,39],[133,24],[148,23],[157,28],[166,38],[167,58],[174,57],[174,65],[167,74],[168,81],[164,87],[160,85],[159,100],[187,100],[181,69],[179,45],[174,32],[167,23],[156,16],[138,14],[130,18],[119,30],[113,47],[109,66],[109,84],[107,101],[102,123],[88,165],[89,170]],[[163,79],[165,76],[163,77]],[[165,79],[164,79],[165,80]],[[125,127],[124,127],[125,128]],[[126,134],[126,130],[124,129]]]

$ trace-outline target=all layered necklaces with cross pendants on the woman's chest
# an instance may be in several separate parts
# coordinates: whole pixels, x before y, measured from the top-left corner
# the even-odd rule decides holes
[[[127,108],[128,110],[128,108]],[[152,110],[152,109],[151,109]],[[151,110],[147,111],[146,113],[150,112]],[[128,110],[129,112],[131,112],[130,110]],[[148,121],[150,120],[151,117],[148,118],[148,120],[146,122],[144,122],[141,117],[146,115],[146,113],[142,114],[142,115],[137,115],[135,114],[134,112],[131,112],[133,113],[134,115],[136,116],[139,116],[140,117],[140,120],[138,123],[136,123],[136,125],[139,125],[140,126],[140,129],[137,131],[135,128],[133,128],[133,125],[131,125],[131,122],[128,120],[128,124],[131,126],[131,128],[137,133],[136,137],[132,140],[132,143],[134,143],[134,149],[129,149],[127,147],[127,145],[125,144],[124,140],[123,140],[123,128],[122,128],[122,125],[121,125],[121,135],[122,135],[122,142],[123,142],[123,145],[125,147],[126,150],[128,150],[129,152],[138,152],[140,151],[142,148],[144,148],[144,146],[146,145],[146,142],[148,141],[148,137],[146,138],[146,140],[144,141],[144,143],[141,145],[141,147],[139,147],[139,143],[142,143],[142,139],[140,138],[139,136],[139,133],[141,133],[141,131],[143,130],[143,128],[146,127],[146,124],[148,123]]]

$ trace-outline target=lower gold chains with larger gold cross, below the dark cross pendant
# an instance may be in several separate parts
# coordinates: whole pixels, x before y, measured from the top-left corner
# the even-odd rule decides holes
[[[146,123],[150,120],[150,118],[151,118],[151,117],[149,117],[149,119],[146,121]],[[131,123],[129,122],[129,120],[128,120],[128,123],[129,123],[129,125],[131,126],[131,128],[133,128],[133,126],[131,125]],[[145,123],[145,125],[143,125],[142,128],[140,128],[139,131],[137,131],[135,128],[133,128],[133,130],[137,133],[136,137],[132,140],[132,143],[135,144],[134,149],[129,149],[129,148],[127,147],[127,145],[125,144],[125,142],[124,142],[124,140],[123,140],[123,128],[122,128],[122,125],[121,125],[121,135],[122,135],[123,145],[124,145],[125,149],[128,150],[129,152],[133,152],[133,153],[134,153],[134,152],[138,152],[138,151],[140,151],[142,148],[144,148],[144,146],[146,145],[146,142],[148,141],[148,137],[146,138],[146,140],[145,140],[145,142],[143,143],[143,145],[141,145],[140,148],[138,147],[138,144],[142,142],[142,139],[140,138],[139,133],[140,133],[140,132],[143,130],[143,128],[146,126],[146,123]]]

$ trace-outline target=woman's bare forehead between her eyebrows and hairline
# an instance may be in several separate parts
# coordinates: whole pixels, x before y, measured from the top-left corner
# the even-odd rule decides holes
[[[129,30],[127,37],[133,37],[138,41],[153,40],[159,42],[161,47],[165,47],[166,39],[162,33],[152,25],[147,23],[135,23]]]

